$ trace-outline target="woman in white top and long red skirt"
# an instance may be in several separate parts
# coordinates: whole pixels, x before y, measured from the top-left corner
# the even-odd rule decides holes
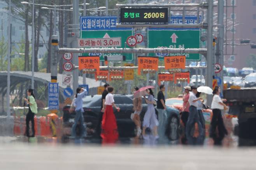
[[[114,106],[117,111],[120,108],[117,108],[114,101],[113,96],[113,87],[107,88],[109,94],[107,94],[105,99],[105,111],[102,118],[102,133],[101,137],[103,139],[103,143],[114,143],[118,139],[118,131],[117,131],[117,124],[116,124],[116,116],[114,115],[113,107]]]

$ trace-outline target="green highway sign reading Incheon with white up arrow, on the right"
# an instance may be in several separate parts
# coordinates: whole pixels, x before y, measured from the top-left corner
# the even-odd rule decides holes
[[[148,47],[167,47],[167,48],[200,48],[200,30],[149,30]],[[163,60],[164,56],[186,56],[186,60],[199,61],[200,54],[149,54],[158,56]]]

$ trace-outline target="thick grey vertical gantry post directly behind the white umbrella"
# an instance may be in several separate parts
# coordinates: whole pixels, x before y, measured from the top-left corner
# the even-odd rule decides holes
[[[213,25],[213,1],[207,0],[207,86],[212,87],[213,63],[212,63],[212,25]],[[207,95],[207,106],[212,103],[212,95]]]

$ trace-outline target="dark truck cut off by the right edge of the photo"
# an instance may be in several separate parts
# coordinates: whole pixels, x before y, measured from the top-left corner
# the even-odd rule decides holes
[[[256,146],[256,87],[223,90],[228,113],[238,118],[239,146]],[[236,131],[236,130],[235,130]]]

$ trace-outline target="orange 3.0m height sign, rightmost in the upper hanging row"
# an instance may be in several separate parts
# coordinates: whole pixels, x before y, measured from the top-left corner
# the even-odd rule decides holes
[[[165,56],[165,69],[185,69],[186,56]]]

